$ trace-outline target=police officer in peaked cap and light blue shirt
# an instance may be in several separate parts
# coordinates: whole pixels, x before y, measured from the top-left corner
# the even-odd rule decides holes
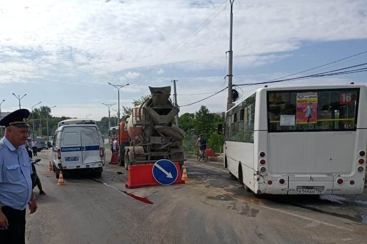
[[[32,191],[32,167],[23,146],[28,138],[30,112],[19,109],[0,120],[5,136],[0,140],[0,243],[25,242],[25,208],[37,210]]]

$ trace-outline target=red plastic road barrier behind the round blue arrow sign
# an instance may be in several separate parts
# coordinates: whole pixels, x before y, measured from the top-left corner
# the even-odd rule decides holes
[[[153,177],[152,169],[154,164],[132,165],[128,170],[128,181],[125,184],[126,188],[162,186]],[[177,168],[177,179],[173,184],[185,184],[185,180],[181,180],[181,170],[179,164],[174,165]],[[172,184],[172,185],[173,185]]]

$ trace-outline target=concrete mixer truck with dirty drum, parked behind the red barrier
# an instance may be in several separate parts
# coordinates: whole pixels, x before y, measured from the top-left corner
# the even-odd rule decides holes
[[[155,163],[160,159],[185,161],[182,139],[185,132],[172,124],[179,109],[171,100],[171,87],[150,87],[151,98],[133,108],[119,128],[119,161],[130,165]]]

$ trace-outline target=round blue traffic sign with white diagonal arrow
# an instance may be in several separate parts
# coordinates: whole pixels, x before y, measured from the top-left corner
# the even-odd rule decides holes
[[[177,179],[177,168],[167,159],[155,162],[152,168],[154,179],[161,185],[171,185]]]

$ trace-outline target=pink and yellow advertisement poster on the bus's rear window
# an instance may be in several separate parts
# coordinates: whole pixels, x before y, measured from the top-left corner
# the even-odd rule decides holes
[[[296,124],[317,123],[317,93],[297,93]]]

